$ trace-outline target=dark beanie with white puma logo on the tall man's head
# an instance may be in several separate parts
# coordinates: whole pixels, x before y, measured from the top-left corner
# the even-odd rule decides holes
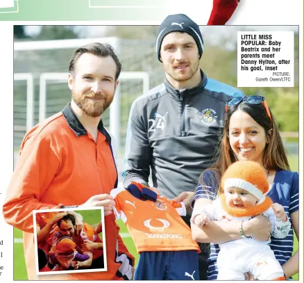
[[[158,27],[158,37],[156,38],[156,54],[160,60],[160,46],[164,37],[173,31],[183,31],[194,38],[197,47],[199,48],[199,58],[203,54],[203,37],[199,26],[189,17],[183,14],[169,15],[164,19],[162,24]],[[160,60],[160,62],[162,62]]]

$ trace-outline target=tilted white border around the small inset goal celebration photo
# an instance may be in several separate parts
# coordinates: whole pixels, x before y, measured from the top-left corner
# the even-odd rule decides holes
[[[83,211],[83,210],[100,210],[101,211],[101,227],[102,227],[102,241],[103,241],[103,262],[104,267],[99,269],[80,269],[80,270],[62,270],[62,271],[49,271],[49,272],[39,272],[39,264],[37,257],[37,231],[36,231],[36,213],[44,212],[60,212],[60,211]],[[107,266],[107,252],[106,252],[106,242],[105,242],[105,214],[103,207],[86,207],[86,208],[65,208],[65,209],[42,209],[33,210],[33,228],[34,228],[34,242],[35,242],[35,268],[37,275],[53,275],[53,274],[65,274],[65,273],[90,273],[90,272],[100,272],[108,271]]]

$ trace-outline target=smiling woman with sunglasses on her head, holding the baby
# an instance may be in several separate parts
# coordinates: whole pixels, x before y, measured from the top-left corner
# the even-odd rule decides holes
[[[235,97],[226,103],[221,143],[217,159],[200,177],[194,195],[194,208],[212,202],[221,193],[219,184],[229,165],[238,160],[249,160],[264,167],[269,191],[267,196],[273,203],[281,204],[298,238],[298,172],[289,168],[287,154],[278,131],[278,126],[264,97]],[[242,228],[242,233],[240,233]],[[276,259],[282,265],[285,277],[298,273],[298,251],[293,252],[293,229],[284,239],[271,237],[269,244]],[[252,236],[258,241],[267,241],[271,226],[264,216],[244,221],[210,221],[203,228],[192,224],[192,236],[199,243],[210,244],[208,280],[217,279],[218,243],[233,241],[242,236]]]

